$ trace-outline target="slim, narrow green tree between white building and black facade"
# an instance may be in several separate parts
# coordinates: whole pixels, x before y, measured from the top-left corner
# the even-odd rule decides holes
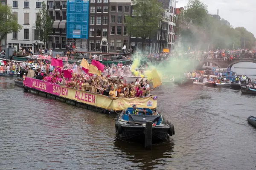
[[[52,24],[53,21],[51,17],[48,16],[46,4],[42,2],[42,8],[40,10],[40,15],[38,15],[35,26],[38,30],[39,40],[44,42],[46,47],[46,42],[49,40],[49,35],[52,34]]]

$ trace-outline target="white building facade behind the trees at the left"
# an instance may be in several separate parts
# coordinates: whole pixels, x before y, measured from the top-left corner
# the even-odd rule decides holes
[[[17,22],[23,26],[18,32],[7,35],[7,48],[44,48],[44,43],[39,41],[35,27],[35,21],[40,15],[41,3],[44,0],[8,0],[7,4],[12,7],[12,14],[17,17]],[[37,42],[37,43],[36,43]],[[36,45],[37,44],[37,45]]]

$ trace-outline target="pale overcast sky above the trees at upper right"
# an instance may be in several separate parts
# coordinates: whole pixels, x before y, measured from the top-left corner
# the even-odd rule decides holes
[[[188,0],[176,0],[177,8],[184,7]],[[256,36],[256,0],[201,0],[207,5],[210,14],[217,14],[230,22],[234,28],[244,27]]]

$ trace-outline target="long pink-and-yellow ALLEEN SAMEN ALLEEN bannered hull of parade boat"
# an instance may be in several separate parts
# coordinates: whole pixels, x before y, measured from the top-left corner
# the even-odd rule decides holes
[[[28,76],[30,73],[28,74]],[[35,75],[35,74],[34,74]],[[51,82],[46,82],[31,77],[23,80],[24,90],[32,94],[38,94],[49,99],[59,100],[70,105],[101,112],[118,113],[137,104],[143,108],[156,109],[157,96],[147,97],[109,97],[76,88],[69,88]]]

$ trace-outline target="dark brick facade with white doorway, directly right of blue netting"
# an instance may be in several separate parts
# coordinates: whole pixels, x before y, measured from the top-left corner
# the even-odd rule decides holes
[[[109,0],[90,0],[88,51],[108,52],[109,21]]]

